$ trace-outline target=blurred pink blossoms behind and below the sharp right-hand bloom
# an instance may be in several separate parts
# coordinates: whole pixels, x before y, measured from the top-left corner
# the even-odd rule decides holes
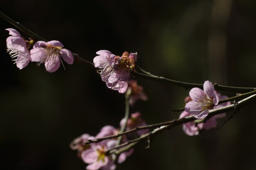
[[[216,94],[218,95],[220,100],[228,98],[225,95],[220,95],[220,93],[218,93],[218,92],[216,92]],[[189,97],[186,97],[185,101],[188,101],[188,100],[189,100]],[[213,109],[228,106],[230,104],[231,104],[231,102],[218,104],[218,106],[214,106]],[[191,114],[187,113],[186,111],[183,111],[180,115],[180,118],[187,117],[187,116],[191,116]],[[217,126],[217,119],[223,118],[225,116],[226,116],[226,113],[215,115],[215,116],[211,117],[209,120],[207,120],[206,122],[199,123],[196,126],[195,126],[194,121],[185,123],[185,124],[182,125],[183,126],[183,131],[186,133],[186,135],[189,135],[189,136],[198,135],[198,134],[200,134],[200,132],[202,130],[209,130],[211,128],[215,128]]]

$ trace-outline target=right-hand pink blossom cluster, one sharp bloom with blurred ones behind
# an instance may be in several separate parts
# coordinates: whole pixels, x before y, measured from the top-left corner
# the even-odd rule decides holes
[[[221,108],[231,104],[231,102],[218,104],[219,100],[227,99],[228,97],[220,95],[220,93],[215,91],[213,84],[209,81],[204,82],[204,91],[200,88],[192,88],[189,95],[190,96],[185,98],[185,111],[181,113],[180,118],[194,115],[197,119],[203,119],[209,114],[210,109]],[[191,121],[183,124],[183,130],[189,136],[198,135],[202,130],[215,128],[217,119],[225,116],[226,113],[215,115],[206,122],[199,124],[195,124],[194,121]]]

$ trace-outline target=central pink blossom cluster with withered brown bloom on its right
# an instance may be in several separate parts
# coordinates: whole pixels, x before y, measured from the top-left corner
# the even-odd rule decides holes
[[[135,67],[137,53],[124,52],[123,55],[117,56],[107,50],[97,51],[93,62],[103,82],[106,82],[108,88],[118,90],[119,93],[125,93],[130,79],[130,71]]]

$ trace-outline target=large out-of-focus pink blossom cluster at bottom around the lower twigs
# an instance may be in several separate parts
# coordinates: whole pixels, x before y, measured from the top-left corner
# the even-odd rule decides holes
[[[121,120],[120,126],[124,123],[124,119]],[[131,117],[128,119],[126,130],[135,128],[136,126],[145,126],[146,122],[141,119],[140,113],[133,113]],[[140,130],[137,132],[137,135],[143,135],[147,133],[148,130]],[[107,151],[115,148],[117,145],[117,138],[106,139],[99,143],[92,143],[85,145],[84,143],[89,140],[99,139],[103,137],[108,137],[112,135],[117,135],[119,133],[119,129],[113,126],[104,126],[101,128],[100,132],[94,137],[89,134],[83,134],[80,137],[74,139],[70,144],[70,148],[72,150],[77,150],[77,156],[80,157],[85,163],[88,164],[86,167],[87,170],[115,170],[117,163],[122,163],[126,160],[126,157],[130,156],[134,149],[130,149],[126,152],[118,155],[118,159],[115,161],[115,155],[108,155]],[[131,136],[124,135],[122,137],[121,143],[125,143],[128,141],[128,138]]]

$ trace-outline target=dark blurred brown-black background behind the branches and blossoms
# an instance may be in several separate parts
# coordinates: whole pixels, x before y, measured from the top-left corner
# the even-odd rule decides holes
[[[254,0],[1,0],[0,10],[89,61],[101,49],[137,52],[137,65],[155,75],[256,86]],[[118,127],[124,95],[106,88],[85,64],[65,64],[55,73],[36,63],[19,70],[6,53],[4,29],[10,27],[0,19],[0,170],[84,170],[70,142],[105,125]],[[179,117],[171,109],[184,107],[188,90],[143,78],[138,83],[148,101],[137,102],[131,113],[141,112],[148,124]],[[220,131],[195,137],[181,126],[166,131],[150,151],[146,143],[137,145],[117,170],[254,170],[254,105]]]

